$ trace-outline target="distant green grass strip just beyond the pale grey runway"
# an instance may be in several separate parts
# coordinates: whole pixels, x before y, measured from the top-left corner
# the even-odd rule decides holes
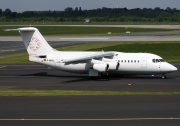
[[[22,26],[0,26],[0,29],[13,29]],[[27,26],[28,27],[28,26]],[[138,32],[163,32],[172,31],[171,29],[153,29],[153,28],[120,28],[120,27],[81,27],[81,26],[36,26],[43,35],[48,36],[78,36],[78,35],[107,35],[108,32],[112,34],[122,34],[126,31],[131,33]],[[19,36],[18,32],[5,32],[0,30],[0,36]]]

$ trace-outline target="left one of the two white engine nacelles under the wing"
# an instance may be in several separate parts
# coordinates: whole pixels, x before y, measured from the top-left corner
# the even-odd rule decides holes
[[[103,64],[94,64],[93,69],[97,70],[98,72],[106,72],[109,69],[109,65],[106,63]]]

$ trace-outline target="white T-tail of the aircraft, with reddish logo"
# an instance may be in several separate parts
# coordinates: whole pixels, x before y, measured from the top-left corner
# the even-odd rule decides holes
[[[19,31],[29,56],[41,56],[51,53],[54,49],[47,43],[38,29],[33,27],[7,29],[5,31]]]

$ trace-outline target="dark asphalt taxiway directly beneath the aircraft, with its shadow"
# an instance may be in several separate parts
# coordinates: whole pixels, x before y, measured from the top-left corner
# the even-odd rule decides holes
[[[174,63],[180,68],[180,63]],[[131,84],[131,86],[128,86]],[[93,80],[42,65],[1,65],[0,89],[180,91],[180,71],[161,76],[110,76]]]

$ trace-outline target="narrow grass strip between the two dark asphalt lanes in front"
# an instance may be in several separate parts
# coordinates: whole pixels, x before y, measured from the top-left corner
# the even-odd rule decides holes
[[[158,96],[180,95],[180,92],[134,92],[134,91],[77,91],[77,90],[23,90],[1,89],[1,97],[17,96]]]

